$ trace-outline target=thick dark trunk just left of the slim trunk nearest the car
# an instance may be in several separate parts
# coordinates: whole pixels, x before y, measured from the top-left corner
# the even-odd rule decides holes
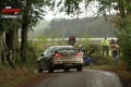
[[[15,30],[5,34],[5,42],[9,48],[8,60],[11,66],[15,64]]]

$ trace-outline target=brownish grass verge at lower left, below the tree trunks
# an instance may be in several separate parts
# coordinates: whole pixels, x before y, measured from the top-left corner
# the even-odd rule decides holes
[[[14,87],[16,83],[34,76],[34,72],[26,66],[12,69],[9,65],[0,66],[0,87]]]

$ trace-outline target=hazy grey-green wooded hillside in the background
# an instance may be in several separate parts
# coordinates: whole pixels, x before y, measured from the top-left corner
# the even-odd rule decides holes
[[[49,28],[45,28],[44,35],[48,37],[53,37],[56,34],[59,37],[68,38],[70,34],[74,34],[75,37],[114,37],[114,32],[117,29],[112,23],[110,23],[110,17],[105,22],[104,16],[99,17],[85,17],[85,18],[56,18],[50,22]],[[49,34],[50,32],[50,34]]]

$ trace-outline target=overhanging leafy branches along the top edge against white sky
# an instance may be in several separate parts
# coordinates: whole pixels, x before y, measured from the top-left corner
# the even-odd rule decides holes
[[[76,15],[76,17],[81,13],[88,12],[91,5],[98,9],[97,12],[94,12],[95,16],[104,15],[105,17],[107,14],[111,14],[112,9],[120,10],[121,8],[126,9],[126,4],[130,5],[130,3],[128,3],[129,0],[59,0],[57,2],[56,0],[51,0],[50,2],[52,5],[50,10],[52,10],[53,13],[66,12],[70,16]],[[83,5],[81,7],[81,4]],[[56,8],[59,8],[59,10],[56,11]],[[92,8],[90,10],[92,10]]]

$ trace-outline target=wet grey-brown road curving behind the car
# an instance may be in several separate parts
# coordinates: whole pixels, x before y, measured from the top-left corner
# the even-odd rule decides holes
[[[47,73],[47,72],[45,72]],[[34,87],[122,87],[119,77],[111,72],[83,70],[56,71],[58,76],[47,78]]]

